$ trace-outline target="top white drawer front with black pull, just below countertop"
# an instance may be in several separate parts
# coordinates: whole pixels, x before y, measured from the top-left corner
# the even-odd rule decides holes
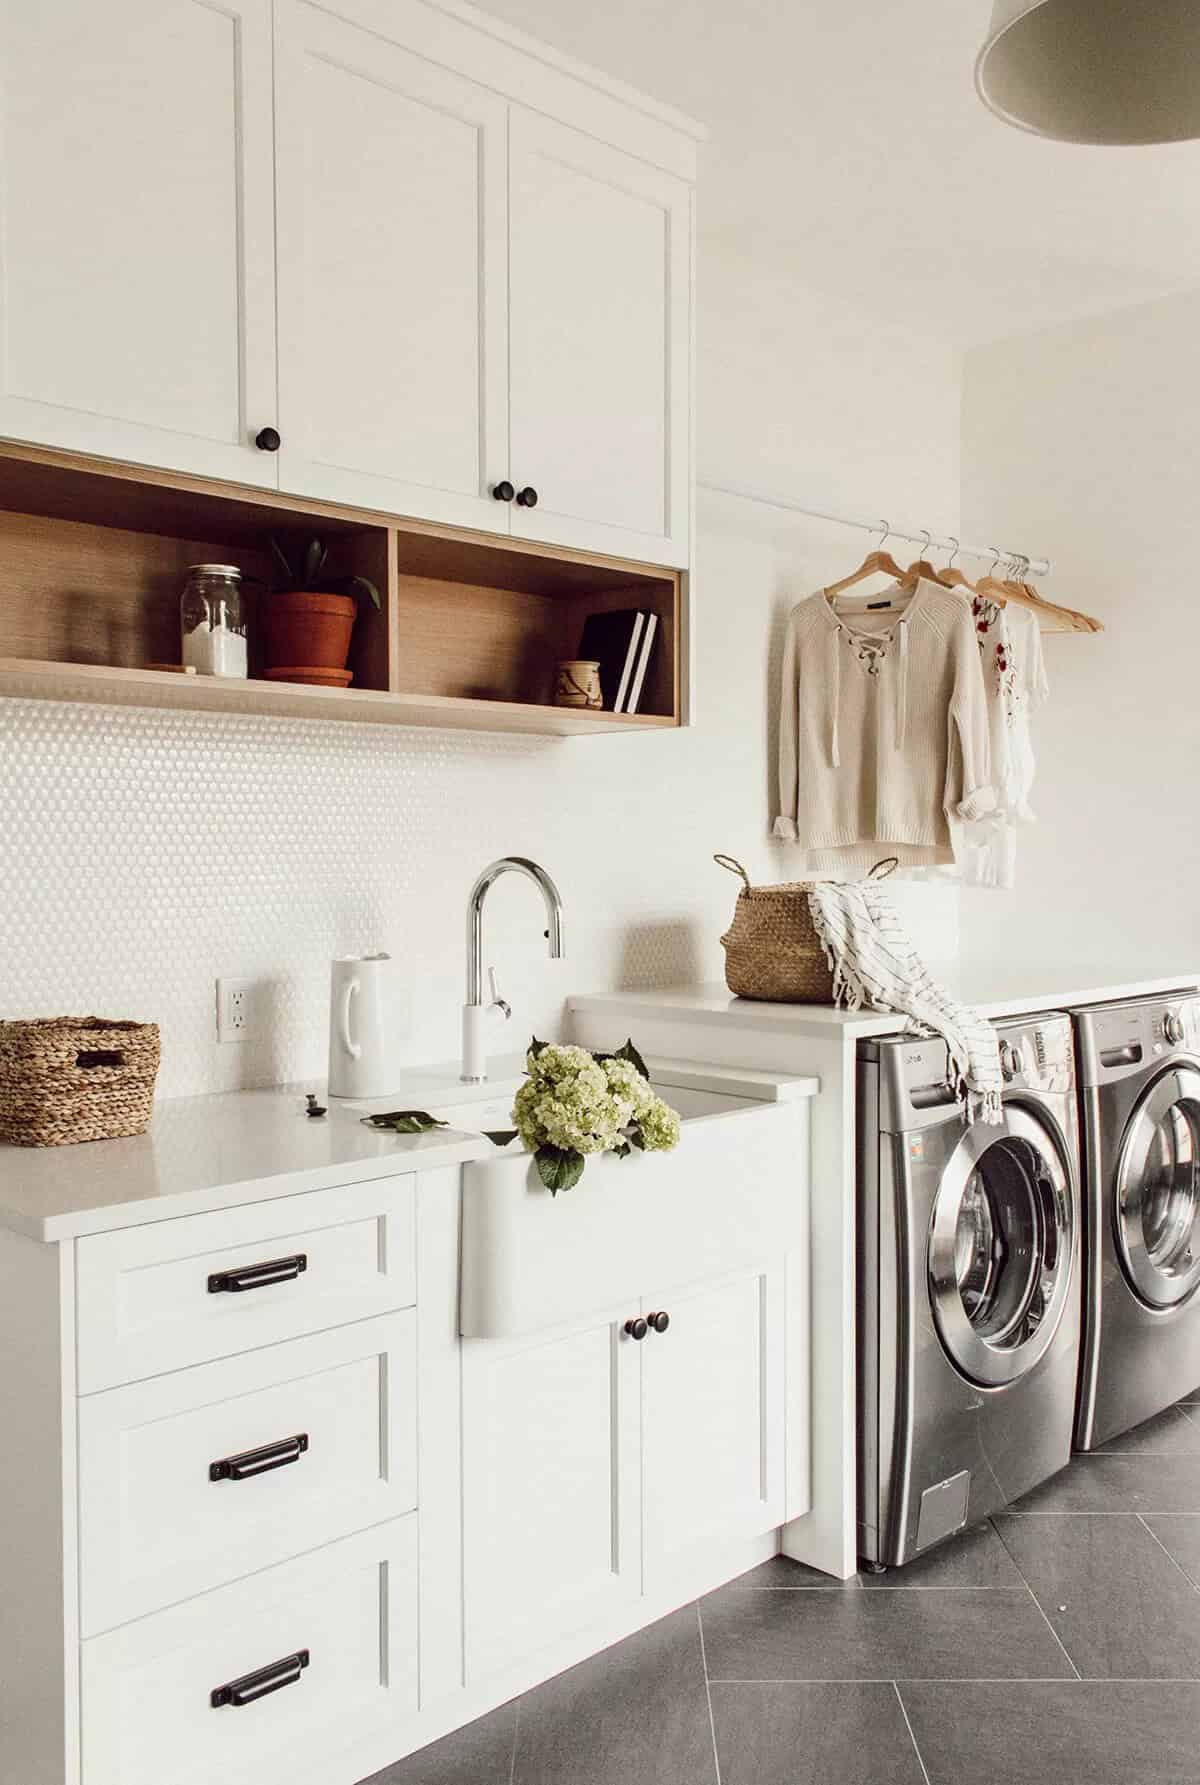
[[[411,1307],[412,1185],[379,1178],[80,1239],[79,1392]]]

